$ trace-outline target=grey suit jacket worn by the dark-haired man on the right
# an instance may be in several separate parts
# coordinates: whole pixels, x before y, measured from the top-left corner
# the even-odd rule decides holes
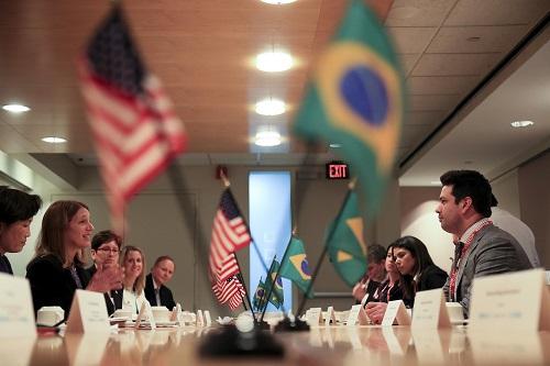
[[[468,253],[461,258],[457,271],[457,301],[464,315],[470,313],[470,297],[475,277],[529,269],[531,264],[518,242],[504,230],[488,225],[475,236]],[[449,279],[443,286],[450,300]]]

